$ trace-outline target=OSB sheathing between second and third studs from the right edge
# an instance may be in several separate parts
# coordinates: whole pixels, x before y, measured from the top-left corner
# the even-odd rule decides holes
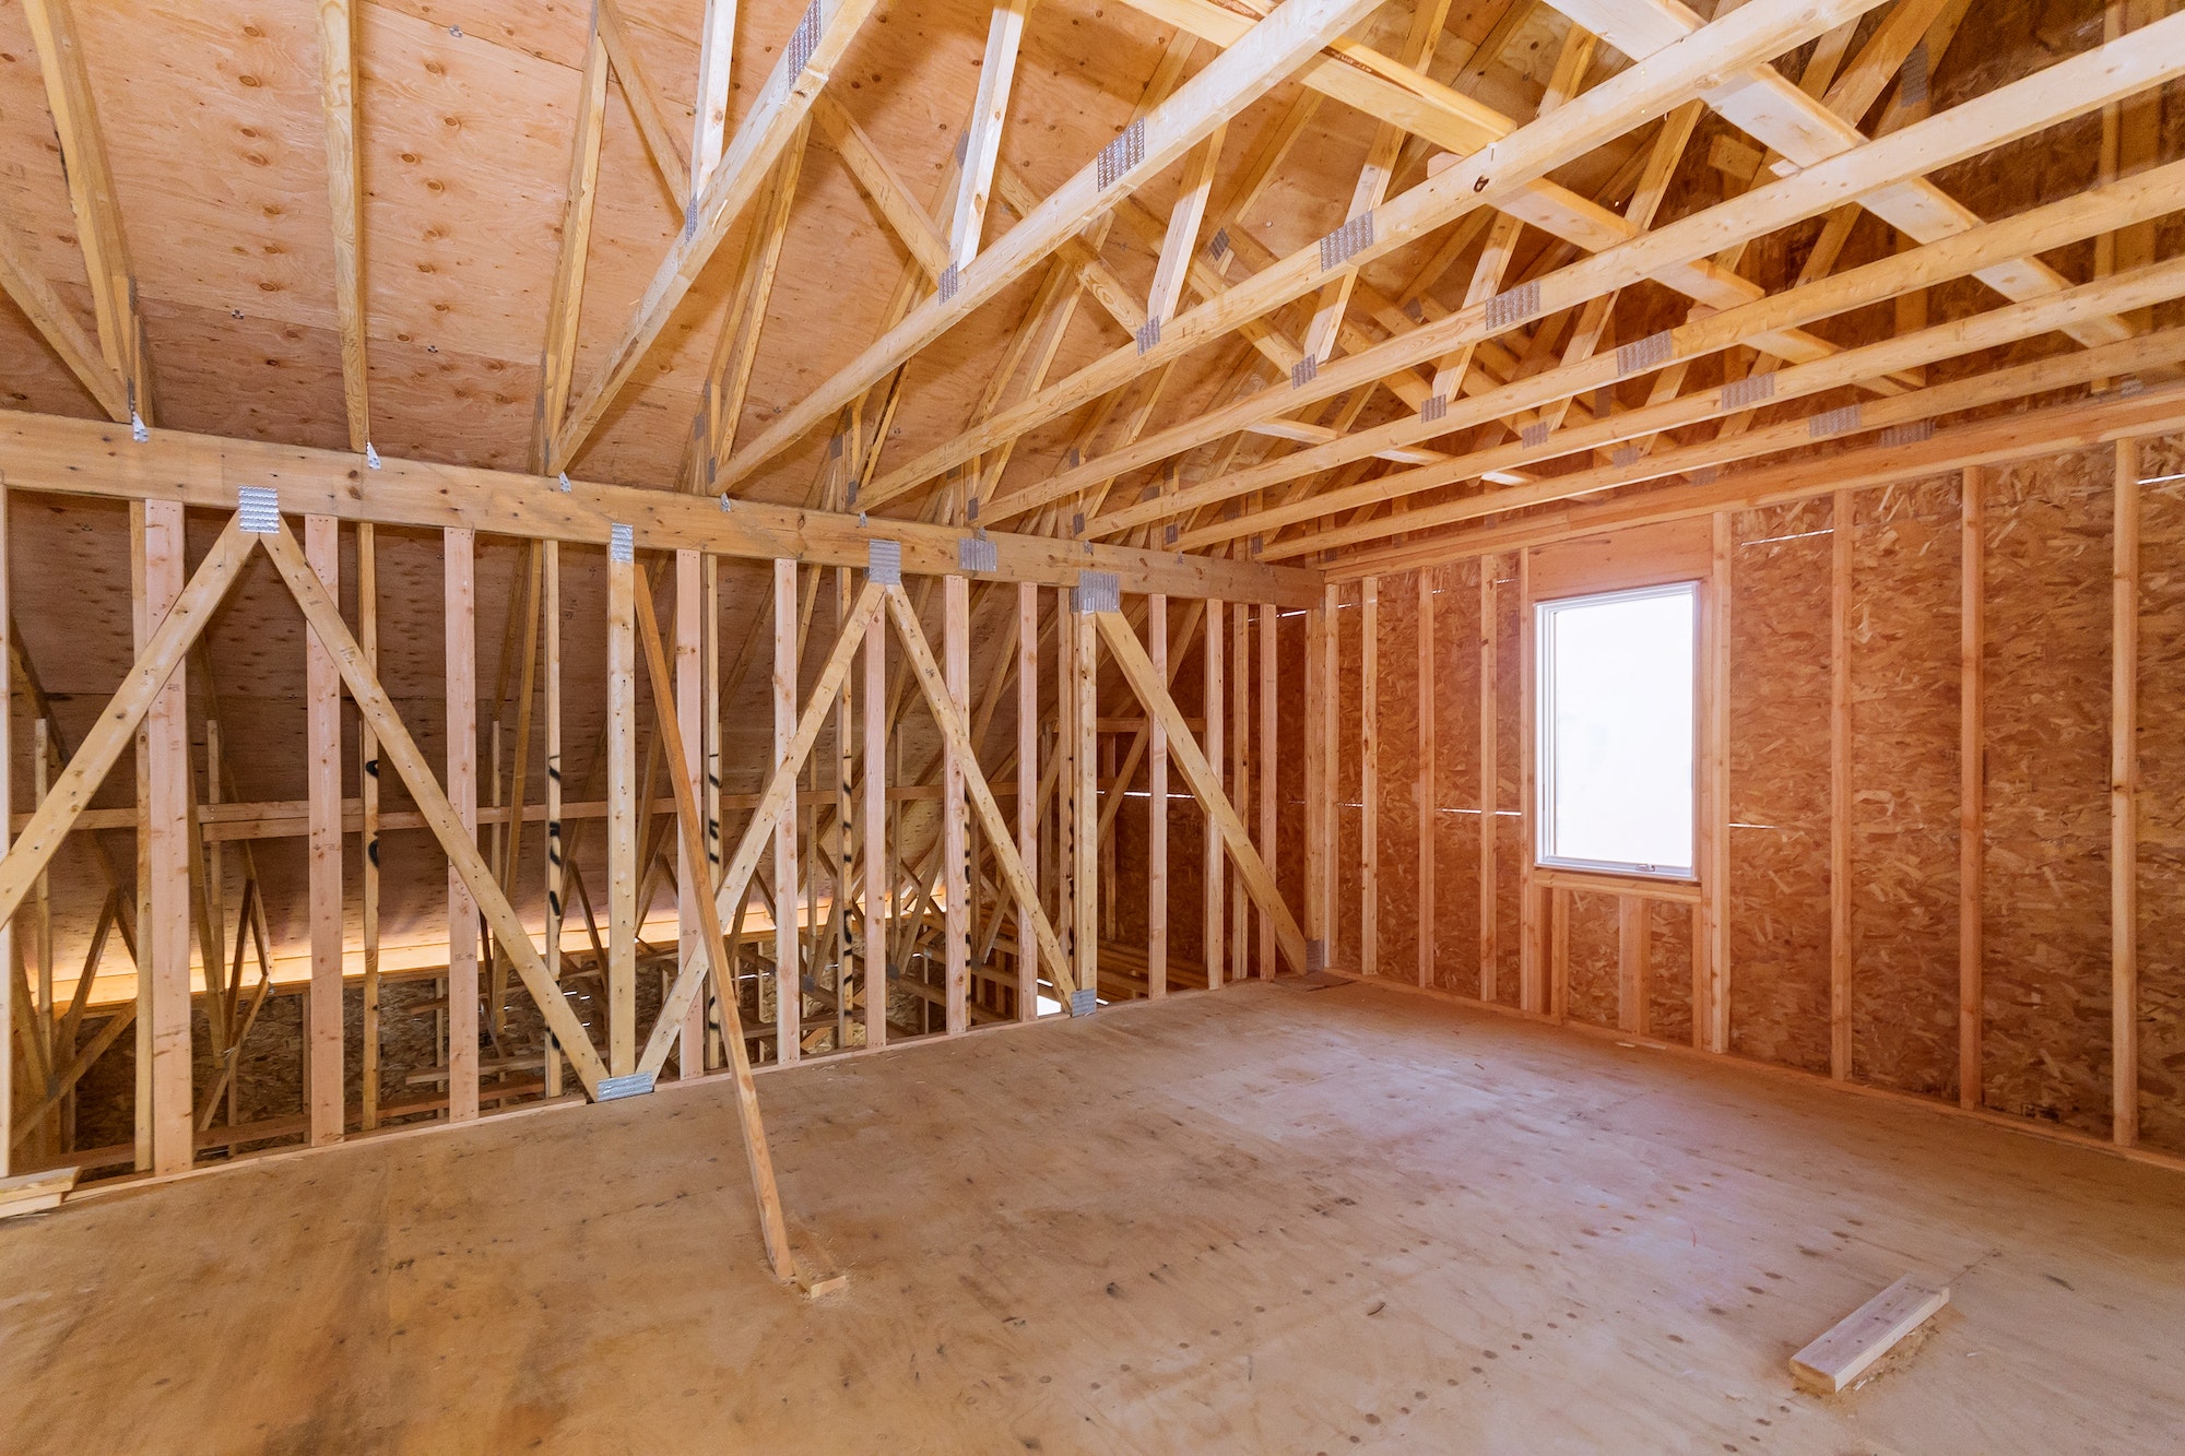
[[[1851,1067],[1958,1087],[1958,477],[1859,492],[1851,551]]]

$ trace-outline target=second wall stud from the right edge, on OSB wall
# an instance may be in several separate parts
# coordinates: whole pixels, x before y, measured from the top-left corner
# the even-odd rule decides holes
[[[1986,474],[1964,472],[1958,505],[1958,1106],[1980,1106],[1982,1003],[1986,966],[1982,947],[1982,896],[1986,892],[1986,560],[1988,540],[1982,490]],[[1849,794],[1849,789],[1846,789]],[[1849,1060],[1849,1058],[1846,1058]]]

